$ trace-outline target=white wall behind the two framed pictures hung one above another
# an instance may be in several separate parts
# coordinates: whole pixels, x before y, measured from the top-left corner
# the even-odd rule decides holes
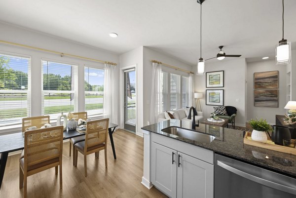
[[[235,117],[235,125],[245,126],[245,67],[246,60],[244,58],[236,58],[232,60],[222,60],[214,63],[206,63],[205,72],[224,71],[224,87],[206,88],[206,75],[195,76],[194,89],[195,92],[202,92],[203,99],[200,100],[203,116],[208,118],[214,112],[214,106],[206,105],[206,89],[224,89],[224,106],[233,106],[237,109]],[[196,67],[194,67],[196,74]],[[239,102],[237,102],[237,100]]]

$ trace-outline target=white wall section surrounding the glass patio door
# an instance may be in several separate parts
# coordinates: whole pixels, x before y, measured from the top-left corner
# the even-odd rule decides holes
[[[123,70],[136,66],[136,94],[137,94],[137,124],[136,134],[143,136],[141,127],[143,122],[143,46],[120,55],[120,126],[124,127],[124,76]]]

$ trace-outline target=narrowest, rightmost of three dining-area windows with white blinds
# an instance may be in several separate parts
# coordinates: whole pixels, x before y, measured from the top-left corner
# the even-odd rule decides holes
[[[84,67],[84,91],[87,116],[103,116],[103,69]]]

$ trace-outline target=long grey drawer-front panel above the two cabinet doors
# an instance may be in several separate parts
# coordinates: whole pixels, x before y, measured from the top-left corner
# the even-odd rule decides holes
[[[205,162],[214,164],[214,152],[194,146],[179,140],[175,140],[173,138],[165,137],[163,135],[158,135],[156,133],[151,133],[151,142],[156,142],[163,146],[169,147],[176,151],[185,153],[193,158],[198,158]]]

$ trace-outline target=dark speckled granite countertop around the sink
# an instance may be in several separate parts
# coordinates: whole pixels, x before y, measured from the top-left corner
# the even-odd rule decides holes
[[[190,121],[179,119],[158,122],[144,126],[142,129],[296,178],[296,156],[251,145],[244,145],[243,131],[200,123],[195,128],[196,131],[216,136],[215,140],[211,143],[200,143],[161,131],[169,126],[191,130]]]

